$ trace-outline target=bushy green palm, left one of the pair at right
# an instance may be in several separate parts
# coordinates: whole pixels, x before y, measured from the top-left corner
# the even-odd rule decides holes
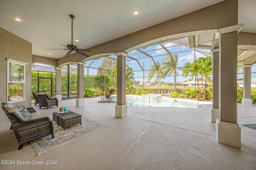
[[[188,74],[190,74],[190,78],[193,80],[194,76],[196,76],[197,80],[197,90],[199,91],[199,81],[198,81],[198,74],[200,74],[199,69],[198,69],[198,62],[193,61],[193,63],[186,63],[184,66],[181,68],[182,70],[182,76],[187,77]]]

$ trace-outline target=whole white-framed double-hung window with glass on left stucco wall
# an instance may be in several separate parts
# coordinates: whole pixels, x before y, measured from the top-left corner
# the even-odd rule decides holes
[[[7,101],[25,100],[26,63],[8,59],[7,61]]]

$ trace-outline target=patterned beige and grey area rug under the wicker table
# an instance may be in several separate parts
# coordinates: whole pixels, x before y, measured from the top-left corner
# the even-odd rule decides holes
[[[84,137],[86,135],[90,135],[91,133],[99,131],[108,126],[82,117],[82,125],[74,125],[70,128],[65,129],[65,131],[63,130],[63,127],[58,126],[55,121],[53,123],[53,127],[54,139],[52,139],[51,135],[48,135],[46,137],[42,137],[33,142],[30,142],[34,150],[36,151],[37,156],[57,149],[63,145],[80,139],[81,137]]]

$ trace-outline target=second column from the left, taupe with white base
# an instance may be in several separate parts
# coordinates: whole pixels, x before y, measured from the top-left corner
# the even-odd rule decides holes
[[[77,98],[76,107],[84,106],[84,63],[77,64]]]

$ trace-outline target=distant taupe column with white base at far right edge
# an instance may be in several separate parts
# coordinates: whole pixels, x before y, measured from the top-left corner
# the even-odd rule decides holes
[[[244,65],[243,72],[244,72],[244,96],[242,98],[242,105],[243,106],[250,106],[252,107],[252,99],[251,99],[251,72],[252,72],[252,64]]]

